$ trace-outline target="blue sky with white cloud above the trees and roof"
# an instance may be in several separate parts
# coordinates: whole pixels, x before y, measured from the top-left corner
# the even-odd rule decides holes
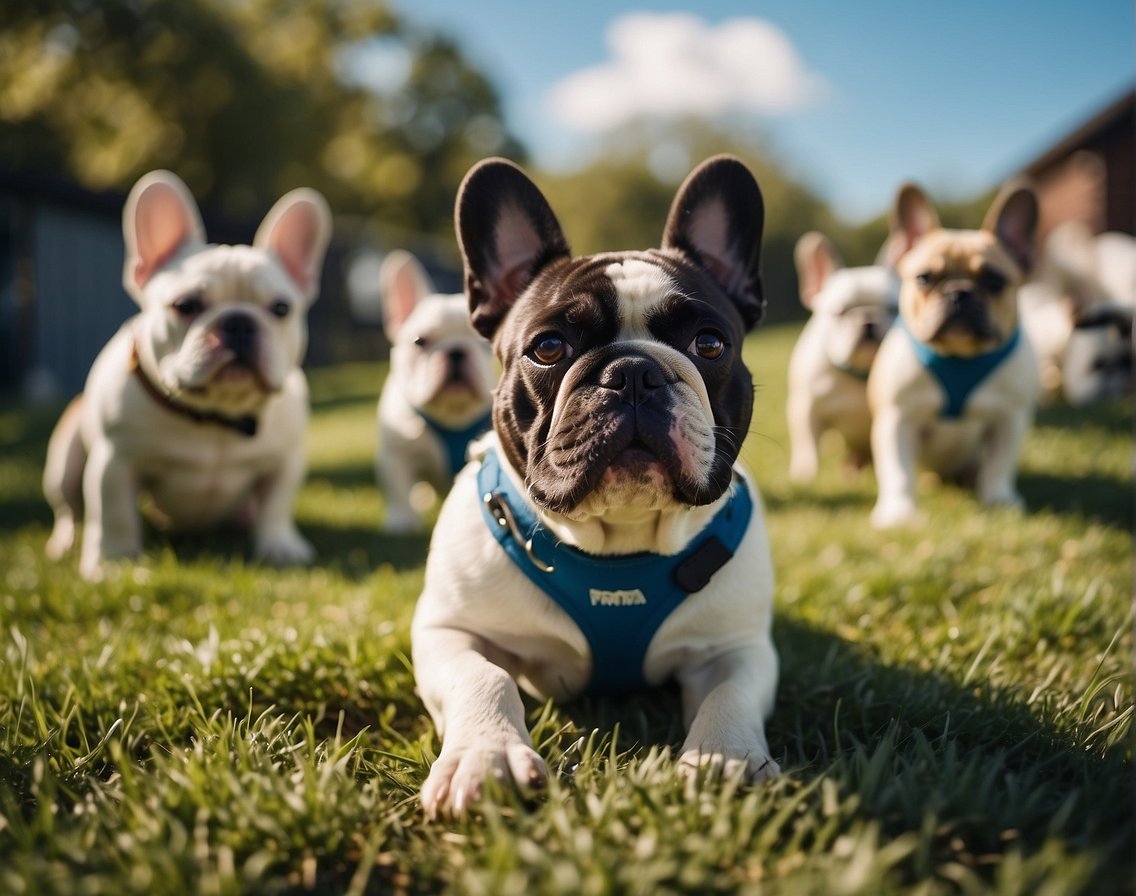
[[[501,92],[510,128],[548,168],[578,162],[595,128],[629,102],[660,115],[669,97],[688,103],[683,87],[702,75],[707,97],[717,95],[715,77],[772,84],[718,101],[725,114],[758,122],[783,166],[850,221],[883,211],[903,179],[944,201],[997,184],[1119,97],[1136,65],[1130,0],[395,6],[458,40]],[[624,18],[636,12],[654,16]],[[687,16],[659,18],[675,12]],[[669,62],[653,67],[666,56],[661,45],[683,47],[693,60],[690,75],[678,66],[682,78],[666,86]],[[727,55],[720,48],[734,48],[734,67],[699,69],[698,57],[718,59]],[[740,74],[744,66],[752,74]]]

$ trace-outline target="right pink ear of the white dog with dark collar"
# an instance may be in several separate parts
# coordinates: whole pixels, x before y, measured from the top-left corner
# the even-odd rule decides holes
[[[319,292],[319,269],[332,238],[332,211],[315,190],[285,193],[257,228],[252,244],[272,252],[308,300]]]

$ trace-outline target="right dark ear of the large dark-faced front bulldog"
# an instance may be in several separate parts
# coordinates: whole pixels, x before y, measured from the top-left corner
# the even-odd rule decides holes
[[[715,156],[678,187],[662,232],[662,248],[700,262],[734,300],[746,329],[765,311],[761,231],[766,207],[750,169],[733,156]]]

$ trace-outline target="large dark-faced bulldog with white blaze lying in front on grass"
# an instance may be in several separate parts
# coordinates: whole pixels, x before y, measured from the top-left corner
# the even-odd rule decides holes
[[[444,502],[411,637],[442,750],[421,792],[460,814],[487,778],[540,788],[518,685],[537,697],[677,679],[680,773],[770,777],[772,564],[738,469],[761,316],[761,193],[716,157],[660,249],[573,258],[516,166],[457,200],[474,326],[503,369],[494,432]]]

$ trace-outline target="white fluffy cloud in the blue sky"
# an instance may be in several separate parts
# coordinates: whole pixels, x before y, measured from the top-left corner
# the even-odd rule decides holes
[[[608,31],[611,58],[556,84],[561,124],[587,133],[634,118],[777,114],[825,90],[784,32],[758,18],[708,25],[696,16],[632,12]]]

